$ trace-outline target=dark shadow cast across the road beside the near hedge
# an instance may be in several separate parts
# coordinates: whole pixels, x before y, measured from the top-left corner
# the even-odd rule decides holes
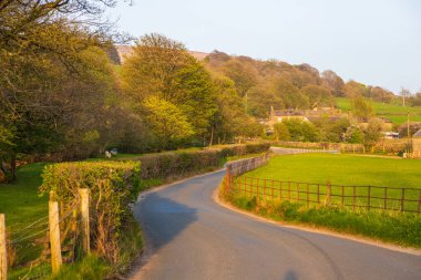
[[[153,251],[171,242],[189,224],[197,220],[197,209],[174,201],[160,193],[141,197],[133,212],[142,226],[147,247]]]

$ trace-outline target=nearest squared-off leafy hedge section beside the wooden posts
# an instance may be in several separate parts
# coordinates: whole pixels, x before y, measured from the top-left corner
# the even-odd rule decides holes
[[[119,263],[122,234],[134,224],[131,205],[140,188],[141,164],[134,162],[62,163],[45,166],[39,191],[54,191],[61,205],[79,199],[79,188],[91,190],[92,249]]]

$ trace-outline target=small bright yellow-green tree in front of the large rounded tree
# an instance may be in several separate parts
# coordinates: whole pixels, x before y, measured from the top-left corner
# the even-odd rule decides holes
[[[162,148],[171,148],[174,143],[194,134],[187,117],[171,102],[157,96],[148,96],[143,106],[146,110],[146,121],[157,136]]]

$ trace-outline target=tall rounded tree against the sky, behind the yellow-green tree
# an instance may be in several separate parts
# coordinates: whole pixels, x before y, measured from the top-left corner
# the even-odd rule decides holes
[[[207,137],[217,110],[215,89],[209,73],[182,43],[160,34],[142,37],[122,65],[121,82],[137,114],[142,115],[145,98],[156,96],[182,111],[197,139]]]

